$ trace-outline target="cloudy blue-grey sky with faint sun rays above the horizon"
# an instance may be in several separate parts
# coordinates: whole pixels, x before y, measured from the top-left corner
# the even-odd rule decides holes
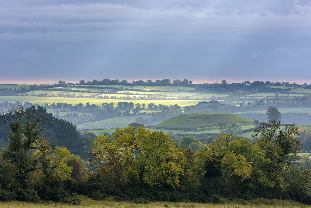
[[[311,0],[0,0],[0,83],[311,83]]]

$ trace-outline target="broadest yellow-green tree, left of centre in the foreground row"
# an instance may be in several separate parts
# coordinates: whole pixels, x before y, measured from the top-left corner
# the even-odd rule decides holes
[[[185,157],[183,149],[167,134],[127,127],[117,129],[111,137],[96,138],[92,162],[98,171],[109,176],[114,187],[131,180],[149,186],[177,187],[184,174]]]

